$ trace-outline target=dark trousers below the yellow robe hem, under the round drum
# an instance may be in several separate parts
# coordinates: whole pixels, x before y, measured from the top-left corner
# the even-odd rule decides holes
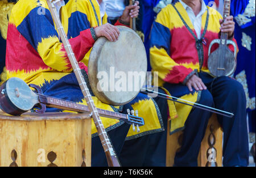
[[[159,92],[164,91],[159,88]],[[122,166],[166,166],[167,100],[154,98],[162,115],[164,131],[125,141],[119,156]]]

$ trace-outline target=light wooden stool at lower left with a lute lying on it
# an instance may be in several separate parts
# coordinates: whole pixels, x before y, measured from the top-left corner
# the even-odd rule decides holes
[[[90,166],[88,114],[0,112],[0,166]]]

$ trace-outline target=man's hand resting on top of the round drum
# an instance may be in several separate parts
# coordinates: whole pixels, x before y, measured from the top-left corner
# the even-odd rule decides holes
[[[118,28],[109,23],[94,28],[94,31],[97,37],[105,36],[109,41],[117,41],[120,35]]]

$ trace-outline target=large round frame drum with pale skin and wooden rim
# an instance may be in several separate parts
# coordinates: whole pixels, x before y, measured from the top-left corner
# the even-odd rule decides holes
[[[90,56],[89,56],[89,62],[88,62],[88,79],[89,79],[89,83],[90,86],[92,88],[93,94],[102,102],[105,104],[111,104],[111,105],[123,105],[126,103],[129,103],[131,100],[133,100],[138,94],[139,91],[137,90],[133,90],[129,93],[129,91],[121,91],[121,93],[116,93],[117,95],[115,96],[116,99],[114,98],[110,98],[110,96],[114,96],[114,93],[111,92],[102,92],[102,91],[98,91],[97,90],[97,83],[98,83],[98,78],[97,78],[97,73],[98,71],[102,71],[100,70],[100,68],[104,68],[102,66],[100,66],[100,64],[102,65],[106,65],[106,66],[110,66],[114,65],[114,67],[116,67],[118,69],[122,68],[121,70],[118,71],[125,71],[125,73],[127,74],[129,71],[138,71],[141,72],[143,71],[146,74],[147,71],[147,54],[146,54],[146,49],[144,48],[144,44],[141,40],[141,38],[137,35],[137,33],[135,31],[133,31],[130,28],[124,27],[124,26],[117,26],[117,28],[119,29],[121,35],[123,32],[123,36],[121,37],[121,35],[119,36],[118,40],[121,41],[117,41],[118,44],[113,44],[113,42],[109,42],[105,37],[100,37],[96,43],[94,44],[92,51],[90,52]],[[133,39],[129,39],[127,37],[133,37]],[[109,46],[106,46],[105,44],[108,43]],[[115,46],[115,45],[121,45],[123,44],[123,46],[118,46],[119,48],[111,48],[110,46]],[[131,46],[131,48],[127,48],[129,50],[123,50],[125,49],[125,47]],[[104,58],[104,54],[102,52],[108,52],[109,50],[107,49],[116,49],[115,53],[109,53],[109,56],[106,56],[106,58]],[[135,50],[138,49],[138,50]],[[131,56],[127,56],[125,54],[129,53],[130,51],[132,51]],[[124,53],[124,55],[121,55],[121,57],[123,58],[113,58],[112,56],[118,56],[117,54],[121,54]],[[130,54],[130,53],[129,53]],[[137,57],[138,55],[138,57]],[[135,57],[136,56],[136,57]],[[118,56],[119,57],[119,56]],[[126,58],[129,58],[129,60],[126,60]],[[105,60],[106,59],[106,60]],[[110,62],[108,61],[110,60]],[[121,60],[121,62],[124,62],[123,65],[121,65],[122,63],[118,63],[117,61]],[[131,69],[129,69],[129,66],[125,65],[125,63],[131,63]],[[136,65],[138,63],[138,65]],[[108,67],[105,67],[107,70],[109,69]],[[134,69],[133,69],[134,68]],[[115,68],[114,68],[115,69]],[[116,70],[115,70],[116,71]],[[108,72],[110,73],[110,70],[108,70]],[[108,73],[108,74],[109,74]],[[126,75],[127,76],[127,75]],[[146,80],[146,78],[139,78],[139,82],[144,83]],[[133,83],[134,84],[134,83]],[[110,86],[110,84],[109,84]],[[128,86],[127,80],[126,80],[126,87]],[[139,84],[139,87],[141,87],[141,84]],[[141,88],[139,88],[141,89]],[[118,91],[115,91],[118,92]],[[125,95],[125,94],[128,95]],[[122,95],[123,94],[123,95]],[[122,98],[122,96],[125,96],[125,98]],[[122,102],[121,102],[122,101]]]

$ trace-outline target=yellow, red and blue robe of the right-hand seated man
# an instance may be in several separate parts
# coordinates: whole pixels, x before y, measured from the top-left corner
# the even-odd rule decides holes
[[[187,80],[197,72],[203,71],[209,73],[207,67],[208,49],[212,40],[219,38],[220,23],[222,19],[220,13],[210,7],[208,8],[209,18],[207,22],[207,11],[202,16],[201,34],[204,32],[205,25],[208,27],[205,31],[203,42],[203,60],[199,60],[199,50],[196,48],[196,39],[189,32],[181,20],[179,14],[196,36],[189,16],[178,0],[172,2],[162,9],[156,17],[151,31],[150,62],[152,71],[156,71],[159,77],[159,87],[165,87],[167,94],[174,95],[181,99],[187,99],[193,102],[200,100],[200,92],[180,91],[175,84],[185,84]],[[233,39],[235,42],[236,40]],[[212,46],[212,51],[217,49],[218,45]],[[230,46],[233,50],[233,46]],[[168,83],[168,84],[167,84]],[[175,103],[177,109],[177,118],[170,118],[171,133],[183,129],[192,107]]]

